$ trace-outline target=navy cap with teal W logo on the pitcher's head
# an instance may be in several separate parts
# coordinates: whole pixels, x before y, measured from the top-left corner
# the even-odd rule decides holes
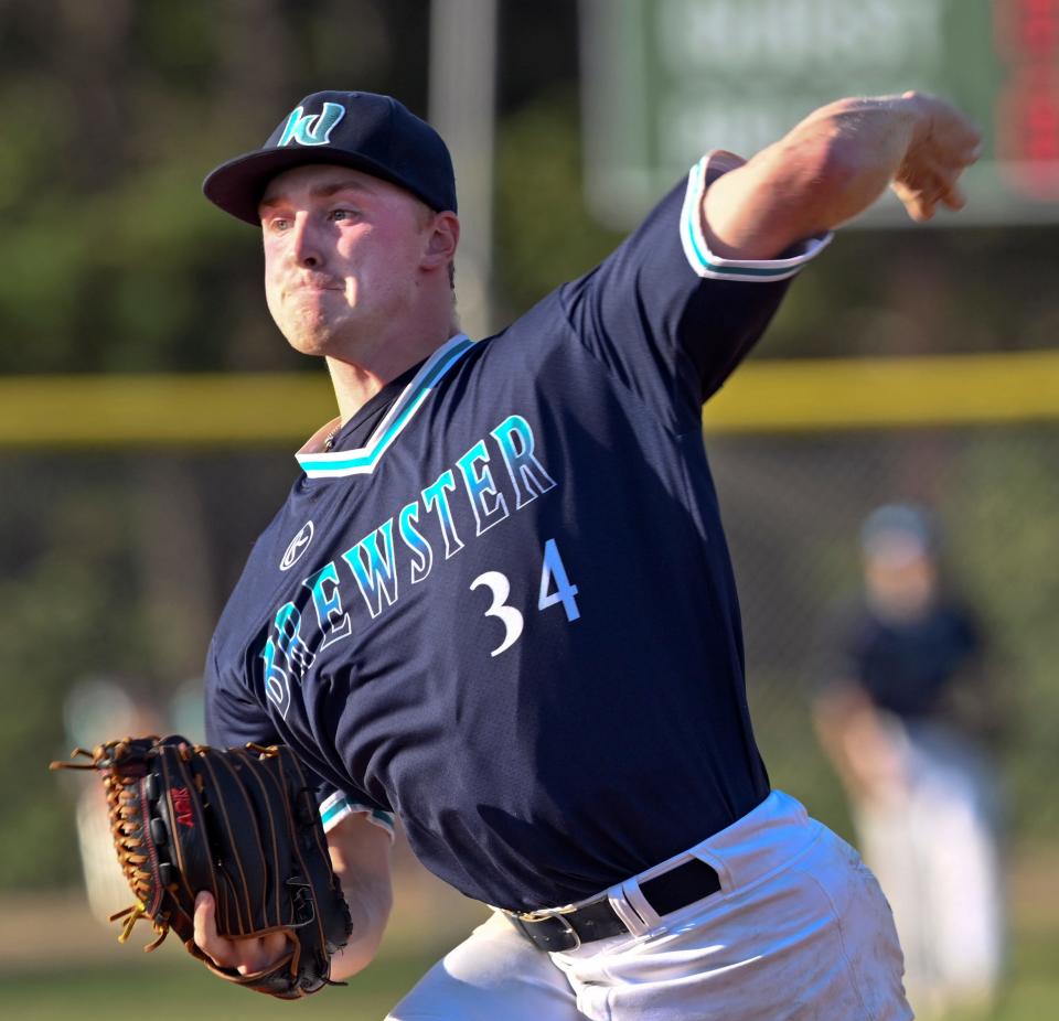
[[[268,182],[303,163],[338,163],[407,189],[438,212],[456,212],[452,159],[441,136],[396,99],[374,93],[313,93],[265,144],[228,160],[203,182],[225,213],[257,226]]]

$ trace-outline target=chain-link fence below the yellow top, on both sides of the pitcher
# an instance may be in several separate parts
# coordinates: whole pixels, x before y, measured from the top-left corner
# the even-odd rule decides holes
[[[859,592],[862,520],[881,503],[913,499],[937,513],[950,587],[990,638],[1013,831],[1059,836],[1059,809],[1041,791],[1059,765],[1059,428],[724,434],[707,447],[773,783],[849,832],[810,705],[832,669],[836,615]],[[45,767],[71,739],[117,724],[92,685],[118,684],[161,729],[194,728],[189,684],[253,538],[295,475],[274,449],[0,456],[0,737],[9,820],[19,820],[0,836],[0,888],[77,881],[73,813]],[[75,688],[75,718],[64,721]]]

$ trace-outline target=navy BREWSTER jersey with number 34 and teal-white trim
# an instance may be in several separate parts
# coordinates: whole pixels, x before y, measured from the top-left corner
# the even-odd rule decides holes
[[[585,898],[769,789],[700,409],[821,243],[715,259],[704,174],[324,427],[211,647],[211,743],[289,743],[325,818],[396,813],[491,904]]]

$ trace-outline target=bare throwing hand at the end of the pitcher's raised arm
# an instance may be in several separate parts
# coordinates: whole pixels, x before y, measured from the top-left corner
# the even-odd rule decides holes
[[[982,151],[982,132],[954,106],[922,93],[901,97],[916,104],[920,125],[890,185],[912,219],[934,215],[938,204],[963,208],[960,175]]]

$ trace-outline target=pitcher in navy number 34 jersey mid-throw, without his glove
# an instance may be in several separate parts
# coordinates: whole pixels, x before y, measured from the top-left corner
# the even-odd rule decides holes
[[[832,227],[888,183],[917,219],[959,208],[977,147],[931,97],[823,107],[749,162],[704,157],[477,343],[448,152],[395,100],[308,96],[206,179],[261,229],[269,310],[338,398],[206,692],[212,744],[285,742],[319,781],[355,926],[334,977],[378,945],[397,815],[495,907],[400,1021],[910,1017],[877,883],[755,745],[699,417]],[[213,911],[222,967],[282,952]]]

